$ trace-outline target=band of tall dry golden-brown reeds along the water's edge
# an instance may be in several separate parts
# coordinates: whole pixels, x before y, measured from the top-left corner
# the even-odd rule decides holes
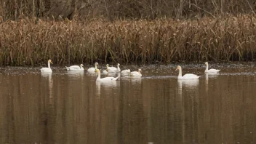
[[[255,60],[255,18],[7,21],[0,24],[0,65]]]

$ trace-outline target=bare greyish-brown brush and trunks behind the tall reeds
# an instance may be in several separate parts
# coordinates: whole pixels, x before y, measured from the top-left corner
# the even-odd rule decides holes
[[[161,17],[192,18],[220,15],[255,15],[255,0],[1,0],[0,16],[4,20],[22,17],[81,19],[105,17],[115,19],[155,19]]]

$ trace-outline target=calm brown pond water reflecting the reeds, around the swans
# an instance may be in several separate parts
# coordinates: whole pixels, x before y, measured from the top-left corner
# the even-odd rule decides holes
[[[177,81],[175,66],[142,66],[141,79],[111,84],[2,67],[0,143],[256,143],[253,63],[215,64],[214,76],[182,65],[196,81]]]

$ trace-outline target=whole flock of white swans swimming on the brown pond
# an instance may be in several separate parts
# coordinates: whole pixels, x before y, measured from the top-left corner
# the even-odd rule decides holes
[[[48,60],[48,68],[41,68],[41,73],[52,73],[52,69],[51,69],[51,64],[52,64],[52,60]],[[116,81],[117,79],[119,79],[119,76],[117,77],[105,77],[105,78],[100,78],[100,70],[97,68],[98,67],[98,63],[95,63],[95,68],[88,68],[87,72],[89,73],[97,73],[97,79],[96,81]],[[103,71],[103,73],[117,73],[117,72],[121,72],[121,74],[123,75],[127,75],[127,76],[139,76],[141,77],[141,69],[138,69],[138,71],[130,71],[129,69],[127,70],[123,70],[121,71],[121,69],[119,68],[119,63],[117,64],[117,68],[116,67],[110,67],[108,64],[106,65],[106,69]],[[219,73],[220,70],[217,69],[208,69],[208,62],[205,63],[206,65],[206,69],[205,69],[205,73]],[[72,65],[70,67],[65,67],[68,71],[84,71],[84,65],[81,64],[79,65]],[[182,76],[182,69],[180,67],[180,65],[177,65],[177,68],[175,71],[179,71],[179,75],[177,76],[177,79],[199,79],[200,76],[197,76],[196,74],[192,74],[192,73],[187,73],[184,76]]]

